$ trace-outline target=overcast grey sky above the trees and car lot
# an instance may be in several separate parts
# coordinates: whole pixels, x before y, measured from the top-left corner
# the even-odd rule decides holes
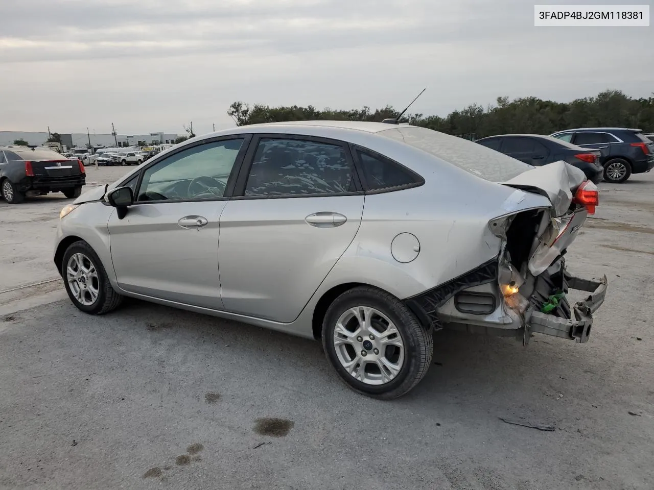
[[[534,3],[0,0],[0,130],[203,134],[233,125],[233,101],[404,108],[422,88],[411,112],[441,116],[651,95],[654,27],[534,27]]]

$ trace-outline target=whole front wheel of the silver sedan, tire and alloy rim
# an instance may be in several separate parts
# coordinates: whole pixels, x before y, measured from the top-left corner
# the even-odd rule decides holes
[[[97,253],[84,240],[71,244],[63,254],[61,276],[69,298],[83,312],[102,315],[123,300],[109,282]]]

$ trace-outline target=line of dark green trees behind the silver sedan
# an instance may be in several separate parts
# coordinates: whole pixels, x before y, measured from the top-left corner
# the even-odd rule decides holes
[[[654,93],[653,93],[654,95]],[[271,107],[263,104],[233,103],[227,114],[239,125],[307,121],[373,121],[395,118],[401,110],[386,106],[374,111],[361,109],[318,110],[314,106]],[[637,127],[654,133],[654,97],[633,99],[619,90],[606,90],[596,97],[576,99],[569,103],[543,101],[538,97],[509,100],[498,97],[487,107],[472,104],[445,117],[405,114],[401,122],[428,127],[462,137],[483,138],[506,133],[549,135],[572,127]]]

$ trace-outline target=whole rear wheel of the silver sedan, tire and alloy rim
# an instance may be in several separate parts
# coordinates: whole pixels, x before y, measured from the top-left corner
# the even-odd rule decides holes
[[[322,344],[341,379],[355,391],[390,400],[426,374],[432,335],[405,304],[375,287],[355,287],[332,302]]]

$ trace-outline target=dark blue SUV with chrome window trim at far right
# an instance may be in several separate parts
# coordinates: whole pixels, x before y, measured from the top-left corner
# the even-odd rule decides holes
[[[602,152],[604,180],[619,184],[631,174],[649,172],[654,167],[654,142],[640,129],[624,127],[584,127],[557,131],[551,135]]]

